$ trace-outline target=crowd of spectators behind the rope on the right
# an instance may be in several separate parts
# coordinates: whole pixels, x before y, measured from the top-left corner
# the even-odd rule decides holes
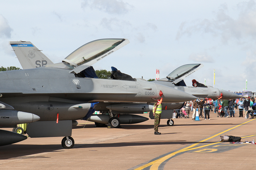
[[[256,98],[250,97],[233,100],[198,99],[187,101],[181,109],[174,110],[172,118],[189,118],[190,111],[193,111],[192,120],[195,120],[196,109],[200,118],[208,120],[210,120],[210,111],[218,113],[221,117],[235,117],[234,108],[236,108],[239,109],[239,117],[249,119],[249,115],[251,115],[250,119],[252,119],[255,113],[255,106]]]

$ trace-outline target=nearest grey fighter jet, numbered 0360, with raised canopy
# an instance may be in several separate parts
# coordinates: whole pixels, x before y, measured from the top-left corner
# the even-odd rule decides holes
[[[141,78],[93,78],[90,66],[128,43],[127,39],[95,40],[76,49],[61,63],[0,72],[0,102],[40,117],[39,121],[28,124],[30,137],[65,136],[62,146],[72,148],[72,124],[88,119],[99,102],[151,103],[163,98],[165,103],[173,103],[196,99],[186,92]],[[32,52],[29,56],[35,57],[33,54],[36,55]],[[110,120],[117,118],[113,116]]]

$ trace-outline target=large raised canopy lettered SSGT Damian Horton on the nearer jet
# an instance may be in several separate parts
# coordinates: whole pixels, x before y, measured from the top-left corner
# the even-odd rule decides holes
[[[63,61],[76,67],[69,71],[70,73],[79,73],[128,43],[129,40],[127,39],[100,39],[91,41],[77,48]]]

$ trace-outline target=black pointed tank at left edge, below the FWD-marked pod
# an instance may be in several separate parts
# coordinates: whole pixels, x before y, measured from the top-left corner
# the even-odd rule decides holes
[[[27,138],[28,137],[15,132],[0,130],[0,146],[14,144],[14,143],[23,141]]]

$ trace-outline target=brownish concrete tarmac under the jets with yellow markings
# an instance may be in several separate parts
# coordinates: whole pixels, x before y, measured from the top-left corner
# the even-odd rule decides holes
[[[0,169],[254,169],[256,145],[219,142],[220,135],[256,141],[255,119],[235,112],[231,118],[211,111],[211,120],[173,119],[174,126],[162,119],[161,135],[154,135],[154,120],[118,129],[94,128],[93,122],[79,121],[72,131],[72,149],[62,148],[63,137],[28,137],[0,147]]]

